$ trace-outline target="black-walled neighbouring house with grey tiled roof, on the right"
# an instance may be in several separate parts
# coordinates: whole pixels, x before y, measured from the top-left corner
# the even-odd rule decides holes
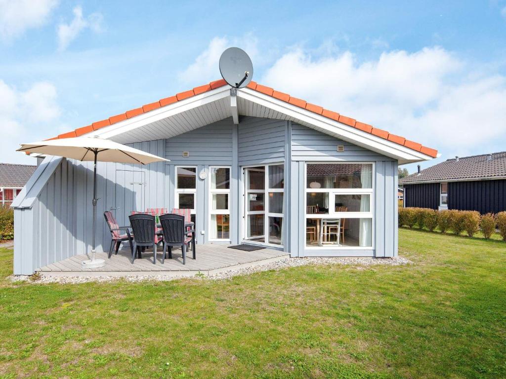
[[[455,157],[418,171],[399,179],[405,207],[506,210],[506,152]]]

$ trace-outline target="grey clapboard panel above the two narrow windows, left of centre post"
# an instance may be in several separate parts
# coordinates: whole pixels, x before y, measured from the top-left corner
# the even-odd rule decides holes
[[[190,156],[183,158],[183,151]],[[165,158],[175,165],[231,165],[232,118],[166,139]]]

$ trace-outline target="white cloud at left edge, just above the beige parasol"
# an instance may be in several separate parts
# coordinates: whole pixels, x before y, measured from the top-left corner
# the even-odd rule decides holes
[[[41,127],[60,116],[57,92],[49,82],[36,82],[19,91],[0,80],[0,162],[34,163],[33,158],[15,152],[19,144],[47,136]]]

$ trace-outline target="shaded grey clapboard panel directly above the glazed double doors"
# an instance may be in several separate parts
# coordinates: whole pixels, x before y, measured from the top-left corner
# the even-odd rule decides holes
[[[238,125],[239,166],[283,162],[287,121],[244,117]]]

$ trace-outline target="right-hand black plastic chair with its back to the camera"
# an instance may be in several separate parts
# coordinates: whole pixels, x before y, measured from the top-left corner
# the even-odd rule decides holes
[[[183,264],[186,264],[186,250],[192,237],[188,236],[189,232],[194,233],[195,230],[187,230],[185,228],[185,217],[177,214],[162,214],[160,216],[160,224],[163,232],[163,257],[161,263],[165,261],[165,255],[172,258],[172,248],[174,246],[181,246],[183,252]],[[195,246],[192,246],[193,259],[195,259]]]

